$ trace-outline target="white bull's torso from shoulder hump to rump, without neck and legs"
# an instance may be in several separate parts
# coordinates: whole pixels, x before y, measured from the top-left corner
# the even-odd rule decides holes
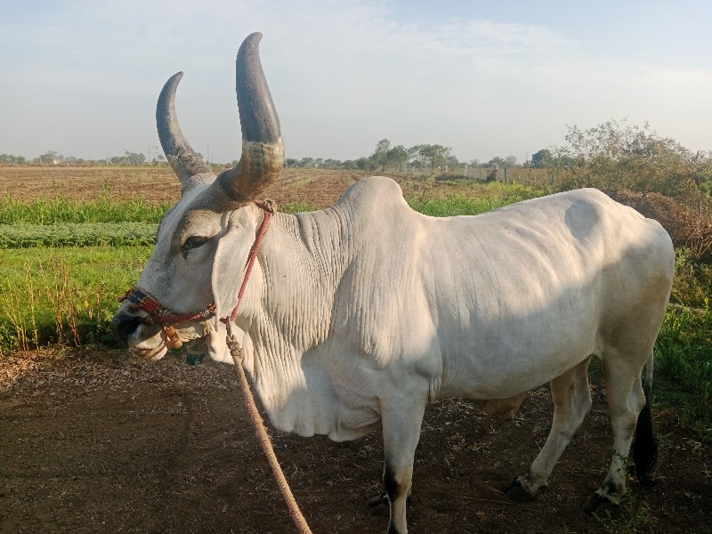
[[[664,312],[667,234],[598,190],[436,218],[371,178],[336,208],[352,236],[335,315],[344,353],[417,369],[443,396],[504,398],[546,383],[595,352],[602,321],[640,301],[642,280],[663,287]],[[645,255],[659,257],[642,268]]]

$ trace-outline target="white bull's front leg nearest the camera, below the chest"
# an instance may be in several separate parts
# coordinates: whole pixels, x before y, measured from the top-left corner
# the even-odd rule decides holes
[[[413,478],[413,459],[420,439],[426,396],[381,401],[384,432],[384,488],[390,506],[389,534],[406,534],[406,499]]]

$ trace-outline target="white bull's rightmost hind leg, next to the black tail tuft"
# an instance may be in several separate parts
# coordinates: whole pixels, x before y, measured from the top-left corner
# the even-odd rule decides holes
[[[598,506],[617,505],[620,498],[626,493],[627,477],[627,457],[630,452],[631,442],[647,441],[649,449],[642,450],[642,443],[638,445],[636,465],[645,464],[647,470],[654,460],[648,462],[649,458],[657,456],[657,443],[652,435],[651,425],[646,425],[644,434],[636,433],[636,422],[639,415],[648,410],[650,405],[646,404],[645,393],[641,381],[641,373],[644,361],[635,359],[624,359],[621,352],[611,351],[603,357],[605,367],[606,398],[611,410],[611,425],[613,428],[613,455],[611,457],[611,468],[603,481],[603,486],[596,490],[584,505],[584,510],[593,512]],[[652,365],[652,360],[649,360]],[[634,454],[634,457],[636,455]],[[641,473],[647,480],[647,473]]]

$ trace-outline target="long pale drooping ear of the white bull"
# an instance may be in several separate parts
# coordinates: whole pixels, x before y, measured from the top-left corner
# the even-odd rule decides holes
[[[247,256],[255,240],[256,209],[250,205],[233,211],[227,231],[217,242],[211,283],[215,315],[221,319],[230,315],[238,302]]]

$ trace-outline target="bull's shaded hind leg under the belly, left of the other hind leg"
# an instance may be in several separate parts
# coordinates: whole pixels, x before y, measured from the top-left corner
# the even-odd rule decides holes
[[[518,502],[530,500],[540,488],[546,486],[546,481],[563,449],[566,449],[591,408],[591,392],[588,388],[590,361],[591,358],[588,357],[575,368],[551,381],[551,396],[554,401],[551,431],[529,471],[506,488],[508,498]]]

